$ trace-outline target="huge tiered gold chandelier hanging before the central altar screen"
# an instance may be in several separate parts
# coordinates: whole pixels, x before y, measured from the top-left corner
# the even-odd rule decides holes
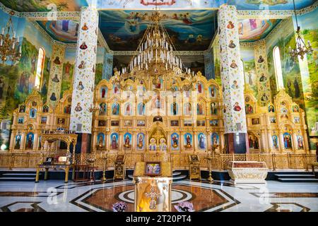
[[[141,83],[151,80],[153,85],[160,83],[160,78],[165,81],[180,78],[189,81],[182,90],[189,91],[196,88],[196,73],[184,66],[180,57],[175,54],[175,47],[167,30],[160,23],[163,18],[160,11],[155,9],[151,16],[151,25],[148,25],[141,39],[137,54],[135,54],[127,67],[115,71],[112,83],[126,90],[127,79],[139,80]]]

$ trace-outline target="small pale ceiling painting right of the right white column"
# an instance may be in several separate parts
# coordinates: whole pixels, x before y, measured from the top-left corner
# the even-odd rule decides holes
[[[256,19],[245,19],[238,20],[238,28],[239,28],[239,37],[240,42],[255,42],[257,40],[261,40],[267,35],[269,32],[273,30],[273,28],[280,23],[281,20],[256,20]]]

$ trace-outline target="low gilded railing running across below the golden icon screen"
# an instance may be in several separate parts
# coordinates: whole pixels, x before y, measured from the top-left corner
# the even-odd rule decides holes
[[[39,162],[52,153],[1,153],[1,168],[35,168]],[[171,162],[173,169],[188,169],[189,153],[126,153],[126,168],[134,169],[136,162],[141,161],[161,161]],[[206,153],[199,153],[201,168],[208,168]],[[114,167],[116,153],[108,153],[107,169]],[[105,155],[76,154],[76,164],[93,164],[97,169],[103,169]],[[73,156],[70,158],[73,159]],[[228,162],[235,161],[261,161],[266,162],[269,169],[307,169],[308,164],[316,161],[316,156],[312,154],[214,154],[211,156],[212,169],[226,169]]]

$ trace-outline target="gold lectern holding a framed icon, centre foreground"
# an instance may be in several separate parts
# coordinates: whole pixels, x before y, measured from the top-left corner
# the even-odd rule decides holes
[[[170,162],[136,162],[134,184],[136,212],[171,211]]]

